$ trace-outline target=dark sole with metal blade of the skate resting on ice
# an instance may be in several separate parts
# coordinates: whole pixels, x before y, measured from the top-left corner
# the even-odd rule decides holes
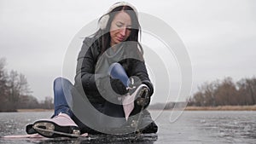
[[[32,126],[38,134],[44,137],[55,138],[55,137],[79,137],[80,130],[76,126],[60,126],[54,122],[49,121],[38,121]]]

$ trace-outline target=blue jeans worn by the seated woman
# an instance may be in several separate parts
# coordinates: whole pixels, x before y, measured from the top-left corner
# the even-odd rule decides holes
[[[130,84],[130,80],[126,75],[123,66],[121,66],[119,63],[113,63],[109,67],[108,73],[112,78],[119,78],[125,84],[126,87]],[[74,86],[69,80],[67,80],[66,78],[55,78],[55,81],[54,81],[55,113],[53,117],[58,115],[60,112],[66,113],[67,115],[70,116],[70,118],[74,117],[73,112],[71,111],[71,108],[70,108],[73,105],[73,95],[72,95],[71,89],[74,89]],[[68,106],[68,104],[70,106]],[[106,109],[109,109],[109,107],[107,105]],[[113,112],[113,109],[115,108],[111,108],[111,109],[112,110],[109,110],[109,111]]]

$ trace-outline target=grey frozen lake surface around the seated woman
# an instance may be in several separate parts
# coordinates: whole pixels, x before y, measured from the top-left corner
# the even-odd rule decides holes
[[[249,143],[256,141],[256,112],[186,111],[170,122],[171,111],[151,111],[159,125],[157,138],[136,143]],[[0,112],[0,136],[25,135],[26,124],[49,118],[52,112]],[[172,118],[173,119],[173,118]],[[0,143],[90,143],[84,139],[5,140]],[[127,141],[129,143],[131,141]],[[102,143],[102,141],[99,141]],[[112,143],[120,143],[112,141]],[[121,142],[121,143],[124,143]],[[125,142],[126,143],[126,142]]]

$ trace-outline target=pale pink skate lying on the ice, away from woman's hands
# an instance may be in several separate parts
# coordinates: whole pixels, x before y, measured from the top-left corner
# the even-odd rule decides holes
[[[60,113],[55,118],[40,119],[32,124],[32,128],[38,134],[49,138],[79,137],[80,135],[78,125],[65,113]]]

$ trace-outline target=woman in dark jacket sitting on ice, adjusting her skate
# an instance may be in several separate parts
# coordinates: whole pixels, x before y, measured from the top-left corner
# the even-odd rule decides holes
[[[99,30],[84,39],[75,84],[66,78],[55,79],[53,117],[28,125],[26,132],[76,137],[114,130],[119,134],[119,128],[125,127],[127,133],[156,133],[157,125],[146,110],[154,88],[143,60],[143,48],[138,43],[139,32],[137,9],[130,3],[114,3],[100,18]],[[91,122],[105,131],[94,130],[83,123],[79,112],[74,112],[86,107],[80,107],[79,99],[76,100],[83,96],[101,115],[109,116],[99,116]],[[112,118],[119,118],[120,123]],[[143,129],[135,129],[137,124],[144,125]],[[55,132],[50,133],[51,130]]]

